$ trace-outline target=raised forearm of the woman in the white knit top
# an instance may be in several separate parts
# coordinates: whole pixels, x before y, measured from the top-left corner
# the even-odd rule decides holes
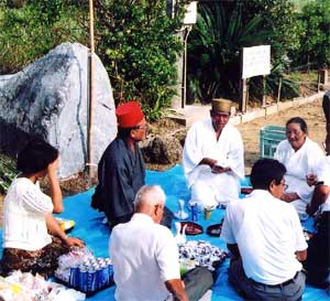
[[[63,196],[59,187],[59,182],[57,179],[57,170],[59,164],[59,158],[57,158],[53,163],[47,168],[47,174],[50,179],[50,189],[51,189],[51,198],[53,202],[53,213],[62,213],[64,211],[63,206]]]

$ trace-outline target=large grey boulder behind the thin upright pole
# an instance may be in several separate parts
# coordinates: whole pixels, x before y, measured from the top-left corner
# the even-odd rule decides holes
[[[65,43],[23,71],[0,76],[0,151],[16,155],[32,137],[42,137],[61,152],[59,176],[88,161],[88,49]],[[95,56],[92,163],[116,137],[110,80]]]

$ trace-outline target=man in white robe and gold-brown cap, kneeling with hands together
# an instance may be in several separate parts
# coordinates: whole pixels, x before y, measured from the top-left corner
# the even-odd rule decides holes
[[[200,207],[227,205],[239,198],[244,179],[244,149],[240,132],[228,123],[232,101],[212,100],[210,118],[197,121],[187,133],[184,171],[191,201]]]

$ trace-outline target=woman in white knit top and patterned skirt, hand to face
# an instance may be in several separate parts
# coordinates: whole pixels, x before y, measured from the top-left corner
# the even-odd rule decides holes
[[[72,246],[84,243],[68,237],[52,213],[63,212],[63,198],[57,180],[58,151],[42,140],[31,140],[20,151],[21,174],[11,183],[4,198],[3,255],[1,273],[12,270],[51,276],[57,258]],[[38,186],[48,176],[51,197]]]

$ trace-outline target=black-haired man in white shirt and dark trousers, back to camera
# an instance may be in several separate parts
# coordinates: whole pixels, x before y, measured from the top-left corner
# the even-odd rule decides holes
[[[221,237],[232,254],[229,281],[249,300],[300,300],[307,244],[297,212],[279,200],[285,166],[273,159],[252,168],[253,192],[227,207]]]

